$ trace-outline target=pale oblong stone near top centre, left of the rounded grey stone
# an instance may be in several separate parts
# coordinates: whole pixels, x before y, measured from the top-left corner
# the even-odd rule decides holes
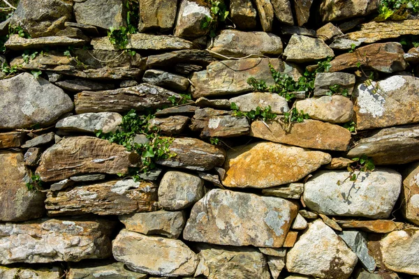
[[[227,29],[214,38],[210,50],[232,57],[279,56],[282,53],[282,41],[272,33]]]

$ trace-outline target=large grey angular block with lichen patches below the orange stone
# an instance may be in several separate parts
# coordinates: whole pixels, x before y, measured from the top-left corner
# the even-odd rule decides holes
[[[219,245],[281,247],[297,211],[280,197],[214,189],[193,206],[183,236]]]

